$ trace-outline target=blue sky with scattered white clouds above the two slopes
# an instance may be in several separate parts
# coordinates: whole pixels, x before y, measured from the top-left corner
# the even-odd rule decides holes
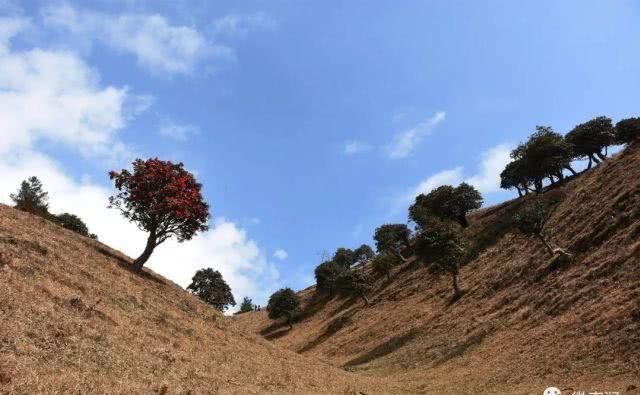
[[[135,255],[143,235],[104,210],[106,172],[183,161],[216,225],[150,266],[181,285],[213,266],[236,299],[308,285],[321,251],[370,243],[441,183],[510,198],[497,175],[535,125],[640,112],[633,1],[0,1],[0,13],[1,201],[41,174],[54,209]]]

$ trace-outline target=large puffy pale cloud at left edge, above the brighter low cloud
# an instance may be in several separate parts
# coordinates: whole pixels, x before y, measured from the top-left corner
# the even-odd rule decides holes
[[[24,20],[0,19],[0,154],[37,140],[85,156],[129,154],[117,139],[132,98],[126,87],[103,87],[97,73],[67,51],[13,50]]]

